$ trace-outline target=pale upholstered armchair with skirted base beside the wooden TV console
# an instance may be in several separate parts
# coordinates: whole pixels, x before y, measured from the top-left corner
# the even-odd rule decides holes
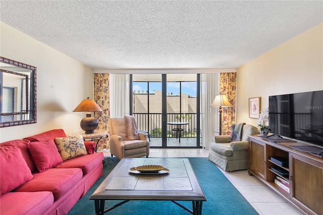
[[[232,132],[232,131],[231,131]],[[248,168],[248,137],[258,133],[252,125],[243,125],[241,141],[231,141],[230,135],[214,137],[209,143],[208,159],[227,172]]]

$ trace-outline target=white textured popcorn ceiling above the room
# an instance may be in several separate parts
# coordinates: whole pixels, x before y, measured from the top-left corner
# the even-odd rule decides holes
[[[0,20],[93,69],[237,68],[323,22],[323,1],[0,1]]]

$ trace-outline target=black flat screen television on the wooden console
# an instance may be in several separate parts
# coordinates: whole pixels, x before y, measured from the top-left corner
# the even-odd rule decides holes
[[[323,146],[323,90],[269,96],[271,133]]]

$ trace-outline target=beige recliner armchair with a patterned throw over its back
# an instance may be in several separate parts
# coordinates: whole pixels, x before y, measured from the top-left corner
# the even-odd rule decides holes
[[[138,133],[138,140],[127,140],[125,119],[110,118],[110,152],[119,159],[149,155],[149,140],[146,134]]]

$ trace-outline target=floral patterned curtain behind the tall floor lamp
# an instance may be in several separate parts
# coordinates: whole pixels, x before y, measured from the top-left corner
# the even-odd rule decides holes
[[[222,130],[231,132],[231,125],[236,123],[236,77],[237,73],[221,73],[220,74],[220,94],[225,94],[231,107],[223,108],[222,113]]]

